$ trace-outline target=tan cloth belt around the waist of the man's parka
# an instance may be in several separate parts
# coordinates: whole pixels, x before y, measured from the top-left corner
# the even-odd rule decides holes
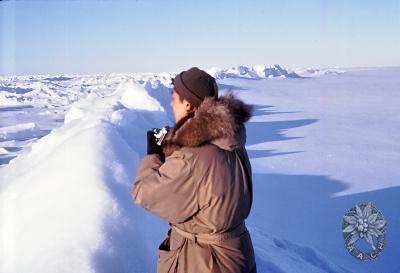
[[[230,229],[228,231],[221,232],[221,233],[214,233],[214,234],[210,234],[210,233],[195,234],[195,233],[184,231],[174,225],[172,225],[172,229],[174,229],[178,234],[182,235],[183,237],[185,237],[195,243],[199,242],[199,243],[205,243],[205,244],[218,244],[224,240],[239,237],[247,230],[244,222],[242,222],[238,226],[234,227],[233,229]]]

